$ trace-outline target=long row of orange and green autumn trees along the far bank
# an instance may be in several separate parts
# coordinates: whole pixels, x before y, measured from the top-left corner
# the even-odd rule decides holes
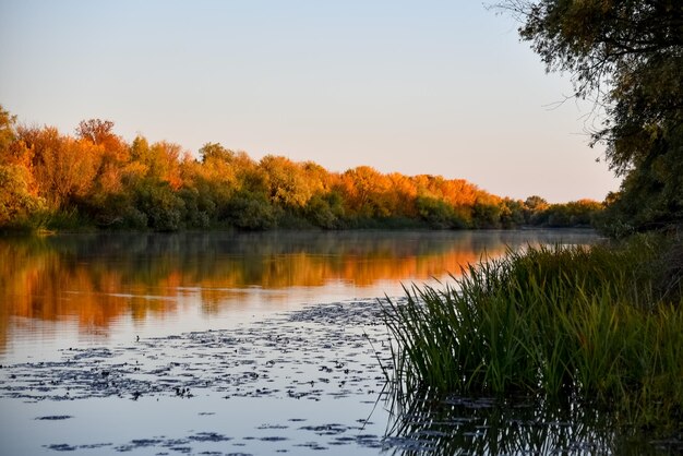
[[[80,229],[514,228],[588,226],[602,204],[501,197],[463,179],[331,172],[313,161],[206,143],[125,142],[113,122],[75,134],[26,127],[0,107],[0,227]]]

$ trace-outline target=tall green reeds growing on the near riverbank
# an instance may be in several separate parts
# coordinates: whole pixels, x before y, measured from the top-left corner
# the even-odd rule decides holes
[[[529,248],[383,301],[394,393],[529,395],[683,434],[683,242]]]

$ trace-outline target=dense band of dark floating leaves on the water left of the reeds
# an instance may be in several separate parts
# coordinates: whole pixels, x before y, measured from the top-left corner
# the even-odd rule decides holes
[[[386,337],[380,314],[372,300],[334,303],[229,331],[141,339],[108,349],[70,348],[60,360],[5,365],[0,398],[188,399],[208,389],[224,398],[316,400],[362,392],[374,400],[369,392],[384,383],[371,348],[373,340],[381,346],[380,338]]]

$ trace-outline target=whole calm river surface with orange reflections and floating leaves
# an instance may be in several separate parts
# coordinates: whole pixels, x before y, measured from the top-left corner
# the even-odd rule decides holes
[[[669,454],[532,401],[397,404],[378,297],[586,231],[0,239],[0,454]],[[664,449],[661,449],[661,448]],[[628,453],[626,453],[628,452]]]

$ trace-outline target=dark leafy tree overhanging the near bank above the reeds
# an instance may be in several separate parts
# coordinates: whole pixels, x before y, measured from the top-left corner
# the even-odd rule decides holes
[[[683,223],[683,2],[507,0],[498,5],[548,71],[603,113],[591,131],[624,177],[606,219],[614,235]]]

